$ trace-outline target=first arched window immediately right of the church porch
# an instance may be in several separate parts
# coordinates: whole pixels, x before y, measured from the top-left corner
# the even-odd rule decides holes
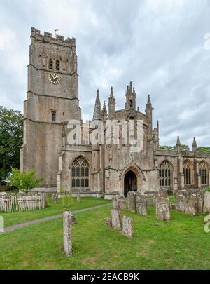
[[[163,161],[159,170],[160,187],[172,185],[172,166],[168,161]]]

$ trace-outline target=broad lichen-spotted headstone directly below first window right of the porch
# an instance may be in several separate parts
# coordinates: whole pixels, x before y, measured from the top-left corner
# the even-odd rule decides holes
[[[171,218],[169,198],[158,197],[156,199],[156,218],[161,220],[169,220]]]

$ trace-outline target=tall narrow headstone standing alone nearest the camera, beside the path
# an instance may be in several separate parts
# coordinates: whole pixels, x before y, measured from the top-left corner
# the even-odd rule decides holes
[[[63,218],[64,251],[67,256],[72,254],[71,225],[72,225],[71,212],[64,211],[64,218]]]

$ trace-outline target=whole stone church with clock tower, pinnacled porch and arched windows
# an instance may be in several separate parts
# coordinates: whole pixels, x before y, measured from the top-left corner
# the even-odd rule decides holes
[[[21,170],[35,169],[44,177],[38,190],[79,190],[83,196],[113,198],[130,190],[200,189],[209,186],[210,154],[182,151],[179,137],[174,150],[159,147],[159,123],[153,128],[153,106],[148,95],[145,113],[136,106],[132,83],[125,90],[125,109],[116,110],[113,88],[101,107],[99,91],[93,121],[143,121],[143,149],[130,154],[130,144],[91,144],[81,130],[81,144],[69,144],[68,121],[82,122],[78,99],[76,39],[41,34],[31,28],[28,90],[24,102],[24,143]]]

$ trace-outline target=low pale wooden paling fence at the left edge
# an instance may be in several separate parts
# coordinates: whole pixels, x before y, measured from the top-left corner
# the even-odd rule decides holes
[[[23,212],[45,208],[45,194],[0,194],[0,212]]]

